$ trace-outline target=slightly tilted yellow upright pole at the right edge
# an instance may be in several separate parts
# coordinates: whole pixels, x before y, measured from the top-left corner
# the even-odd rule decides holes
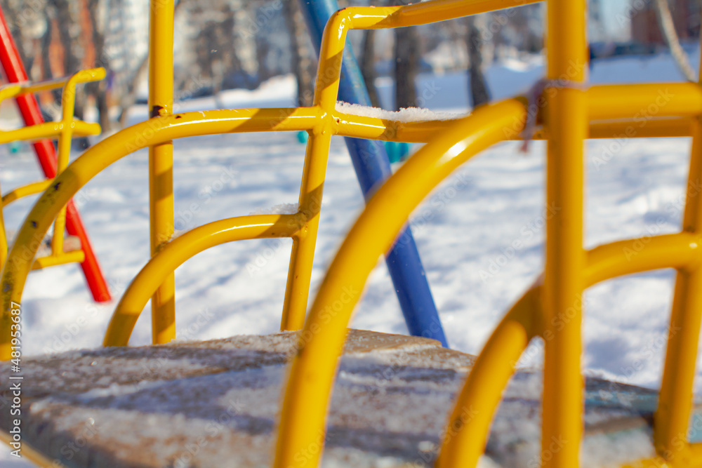
[[[700,64],[702,76],[702,63]],[[702,83],[702,80],[700,81]],[[682,220],[684,232],[702,233],[702,119],[692,123],[690,170]],[[665,353],[661,394],[654,417],[654,445],[658,455],[680,460],[687,446],[692,409],[697,347],[702,321],[702,269],[678,270],[670,314],[668,349]]]

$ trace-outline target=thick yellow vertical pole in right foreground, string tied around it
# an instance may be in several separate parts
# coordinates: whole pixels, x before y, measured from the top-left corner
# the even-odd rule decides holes
[[[583,432],[581,320],[583,306],[583,140],[588,116],[585,92],[585,0],[548,0],[548,153],[544,275],[545,361],[542,466],[578,466]],[[553,441],[562,448],[552,450]],[[548,456],[547,456],[548,455]]]

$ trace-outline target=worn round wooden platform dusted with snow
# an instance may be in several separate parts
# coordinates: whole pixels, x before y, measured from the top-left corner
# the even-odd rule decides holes
[[[269,466],[296,335],[23,359],[22,440],[70,468]],[[350,330],[323,466],[431,466],[473,362],[433,340]],[[9,366],[0,363],[1,375]],[[8,386],[3,378],[4,430]],[[600,379],[588,379],[586,390],[584,467],[653,455],[655,392]],[[540,399],[541,372],[520,370],[503,395],[482,466],[538,466]]]

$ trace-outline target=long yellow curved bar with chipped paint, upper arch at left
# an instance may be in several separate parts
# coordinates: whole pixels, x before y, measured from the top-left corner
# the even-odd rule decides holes
[[[159,142],[232,131],[307,130],[317,108],[216,110],[150,119],[115,133],[79,156],[55,179],[27,215],[2,272],[0,360],[10,359],[11,301],[20,302],[34,255],[62,206],[102,169],[138,149]]]

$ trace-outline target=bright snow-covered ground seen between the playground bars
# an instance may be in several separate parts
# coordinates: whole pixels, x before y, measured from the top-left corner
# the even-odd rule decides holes
[[[696,60],[696,55],[694,55]],[[494,65],[487,76],[494,98],[523,91],[543,74],[538,60]],[[591,81],[680,81],[666,55],[597,62]],[[463,74],[422,76],[423,104],[464,111]],[[386,79],[378,81],[388,102]],[[230,91],[227,107],[293,105],[294,84],[277,78],[253,92]],[[213,100],[184,102],[180,110],[213,107]],[[147,117],[135,107],[132,122]],[[588,247],[649,233],[675,232],[689,139],[588,142]],[[612,157],[605,151],[611,150]],[[190,229],[278,203],[294,203],[304,147],[293,133],[216,135],[175,144],[176,228]],[[455,349],[477,353],[505,309],[543,267],[545,145],[529,154],[503,143],[461,168],[416,212],[413,232],[435,301]],[[27,148],[0,149],[3,192],[38,178]],[[147,152],[115,163],[77,197],[114,297],[149,257]],[[468,184],[457,183],[468,180]],[[6,210],[17,227],[32,201]],[[342,138],[331,145],[312,296],[343,236],[362,210],[362,196]],[[514,241],[521,247],[510,250]],[[176,272],[178,335],[197,339],[278,330],[289,259],[289,241],[243,241],[201,253]],[[592,288],[585,314],[585,367],[592,375],[657,387],[665,351],[673,272],[609,281]],[[54,267],[29,276],[22,299],[25,355],[98,347],[115,303],[93,305],[77,266]],[[406,333],[383,262],[371,274],[355,328]],[[131,344],[150,340],[150,319],[137,323]],[[540,350],[526,364],[538,363]],[[698,377],[702,374],[698,374]],[[702,380],[698,380],[698,390]],[[2,460],[0,458],[0,460]]]

